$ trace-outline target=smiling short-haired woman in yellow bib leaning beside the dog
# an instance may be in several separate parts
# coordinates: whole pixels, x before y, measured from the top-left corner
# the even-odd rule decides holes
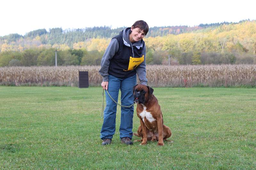
[[[100,75],[103,77],[102,88],[108,90],[110,96],[117,102],[121,90],[121,105],[130,106],[133,103],[133,87],[136,85],[136,73],[140,84],[147,85],[146,78],[146,47],[143,38],[148,33],[148,24],[139,20],[132,27],[119,32],[109,43],[101,60]],[[111,144],[116,131],[117,104],[106,94],[106,108],[100,131],[102,145]],[[121,107],[120,138],[121,142],[132,145],[133,106]]]

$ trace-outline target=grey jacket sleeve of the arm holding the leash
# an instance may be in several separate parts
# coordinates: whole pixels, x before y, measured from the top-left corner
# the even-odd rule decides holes
[[[110,60],[114,57],[119,49],[117,39],[111,39],[103,57],[101,60],[101,68],[99,70],[100,75],[103,77],[103,81],[108,81],[108,67]]]

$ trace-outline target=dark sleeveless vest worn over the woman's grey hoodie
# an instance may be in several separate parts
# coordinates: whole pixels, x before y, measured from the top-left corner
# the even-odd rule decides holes
[[[108,67],[108,74],[114,75],[118,78],[126,78],[136,74],[135,69],[131,71],[124,71],[124,70],[128,69],[130,56],[132,57],[132,48],[133,48],[134,57],[140,58],[142,57],[142,49],[145,46],[144,41],[142,42],[143,46],[140,47],[140,49],[138,49],[137,47],[125,46],[122,33],[114,37],[118,41],[119,49],[118,49],[118,52],[114,55],[114,57],[110,60],[109,67]]]

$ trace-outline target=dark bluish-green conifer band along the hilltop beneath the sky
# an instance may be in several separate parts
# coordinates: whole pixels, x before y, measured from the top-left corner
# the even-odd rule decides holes
[[[243,20],[238,23],[250,21]],[[162,27],[151,27],[147,34],[147,37],[157,37],[157,36],[166,36],[168,34],[178,35],[181,33],[193,32],[197,30],[202,30],[205,28],[215,28],[220,25],[228,25],[228,24],[238,24],[232,22],[223,22],[223,23],[212,23],[212,24],[200,24],[198,26],[189,27],[186,25],[183,26],[162,26]],[[126,27],[120,27],[116,29],[111,29],[109,26],[100,26],[100,27],[89,27],[82,29],[66,29],[62,28],[52,28],[49,31],[46,29],[38,29],[34,31],[30,31],[26,33],[24,36],[19,34],[9,34],[5,36],[0,36],[0,45],[8,44],[8,45],[36,45],[40,44],[67,44],[70,48],[72,48],[74,43],[86,41],[87,39],[92,38],[112,38],[117,35],[121,30]],[[35,42],[36,41],[36,42]]]

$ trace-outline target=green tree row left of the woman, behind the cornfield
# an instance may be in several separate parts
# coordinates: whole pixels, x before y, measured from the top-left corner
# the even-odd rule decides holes
[[[3,66],[54,66],[54,48],[30,48],[22,52],[5,51],[0,53],[0,67]],[[69,65],[100,65],[102,52],[86,50],[58,50],[57,64],[59,66]],[[95,57],[98,56],[98,57]],[[101,56],[101,57],[100,57]]]

